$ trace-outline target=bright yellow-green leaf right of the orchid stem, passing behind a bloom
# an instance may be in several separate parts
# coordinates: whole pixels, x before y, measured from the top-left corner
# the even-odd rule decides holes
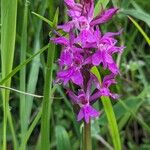
[[[100,73],[96,67],[94,67],[94,69],[92,68],[91,72],[99,79],[99,81],[101,81]],[[113,141],[114,149],[121,150],[119,129],[118,129],[115,113],[113,111],[113,106],[111,104],[109,97],[102,96],[101,100],[109,123],[108,125],[109,125],[110,135]]]

